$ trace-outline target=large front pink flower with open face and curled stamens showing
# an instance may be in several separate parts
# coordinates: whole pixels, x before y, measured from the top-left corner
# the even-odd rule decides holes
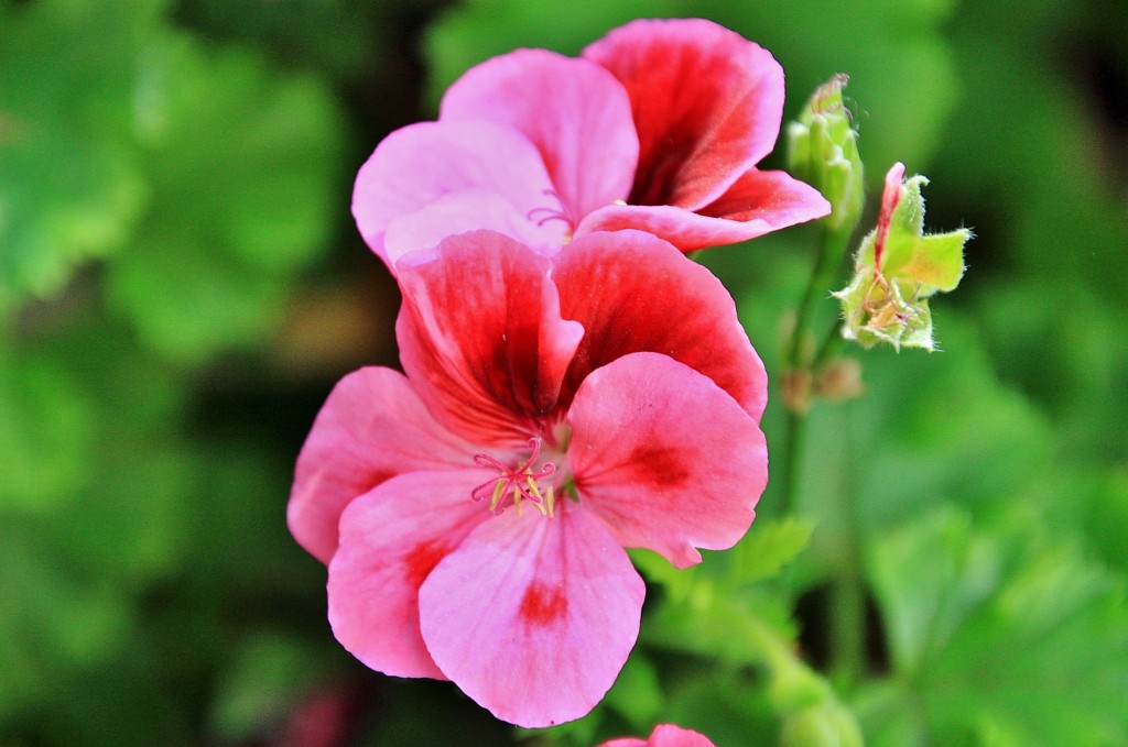
[[[396,269],[406,376],[333,390],[290,530],[371,668],[452,679],[526,727],[579,718],[637,638],[623,548],[685,568],[748,530],[764,367],[720,282],[644,232],[549,258],[477,231]]]

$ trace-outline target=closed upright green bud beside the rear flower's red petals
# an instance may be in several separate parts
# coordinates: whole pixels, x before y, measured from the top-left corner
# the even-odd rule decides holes
[[[853,230],[865,202],[857,133],[843,105],[847,80],[839,73],[819,86],[799,121],[787,125],[788,169],[830,202],[826,220],[832,231]]]

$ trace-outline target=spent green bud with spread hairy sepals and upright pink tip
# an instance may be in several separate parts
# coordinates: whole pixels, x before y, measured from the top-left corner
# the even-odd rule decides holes
[[[885,176],[878,228],[863,240],[854,277],[835,293],[843,304],[843,336],[863,347],[935,348],[928,299],[952,291],[963,277],[963,244],[971,231],[924,234],[923,176],[904,179],[905,164]]]

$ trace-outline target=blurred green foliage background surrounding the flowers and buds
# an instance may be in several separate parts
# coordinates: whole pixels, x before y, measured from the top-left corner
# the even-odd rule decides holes
[[[739,620],[706,601],[679,623],[654,571],[607,703],[515,732],[336,644],[285,501],[337,379],[397,365],[360,163],[475,62],[646,16],[769,48],[785,118],[848,73],[871,188],[904,161],[932,179],[926,226],[976,239],[932,304],[942,352],[853,350],[864,394],[812,410]],[[765,623],[866,744],[1128,745],[1126,38],[1120,0],[0,0],[0,744],[592,744],[658,721],[847,744],[802,736],[742,638]],[[769,374],[817,237],[702,258]]]

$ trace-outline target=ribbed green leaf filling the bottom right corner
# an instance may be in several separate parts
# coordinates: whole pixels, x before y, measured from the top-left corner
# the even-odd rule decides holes
[[[940,510],[872,545],[867,572],[914,708],[936,744],[1099,747],[1128,739],[1121,579],[1040,536]],[[911,705],[910,705],[911,703]]]

